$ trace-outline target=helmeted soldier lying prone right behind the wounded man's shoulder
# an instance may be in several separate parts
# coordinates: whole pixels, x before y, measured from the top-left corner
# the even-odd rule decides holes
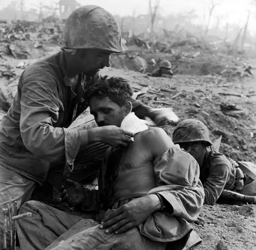
[[[237,162],[212,150],[209,131],[201,121],[181,121],[173,131],[172,141],[188,151],[198,162],[205,204],[215,204],[223,189],[243,195],[256,195],[256,176],[252,171],[256,170],[256,165]]]

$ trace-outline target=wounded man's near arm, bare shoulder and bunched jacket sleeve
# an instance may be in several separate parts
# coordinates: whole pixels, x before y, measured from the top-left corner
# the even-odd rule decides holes
[[[186,151],[174,145],[163,129],[152,128],[145,137],[155,159],[157,187],[148,194],[164,197],[170,215],[194,221],[204,201],[204,190],[199,180],[199,165]],[[148,139],[147,139],[148,138]]]

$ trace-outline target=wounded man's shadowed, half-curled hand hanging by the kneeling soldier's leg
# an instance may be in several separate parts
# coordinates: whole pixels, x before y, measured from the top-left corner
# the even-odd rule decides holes
[[[84,201],[84,187],[73,180],[66,180],[71,188],[61,186],[61,198],[68,205],[79,205]]]

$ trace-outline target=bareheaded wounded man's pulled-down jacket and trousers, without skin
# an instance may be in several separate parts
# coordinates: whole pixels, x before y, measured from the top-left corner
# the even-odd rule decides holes
[[[105,209],[118,207],[115,200],[112,203],[110,199],[110,203],[107,204],[110,197],[105,193],[106,190],[110,191],[108,180],[112,181],[111,178],[107,178],[106,174],[110,156],[109,149],[100,172],[99,191],[87,192],[85,197],[83,207],[88,207],[91,211],[92,206],[95,210],[100,207]],[[112,164],[110,166],[112,167]],[[21,207],[20,213],[30,211],[33,213],[33,219],[23,218],[18,221],[17,233],[21,250],[41,250],[45,247],[47,250],[164,250],[167,247],[167,249],[175,250],[188,249],[199,244],[201,239],[189,224],[198,217],[204,200],[204,191],[199,180],[199,166],[196,160],[175,145],[167,150],[162,157],[154,160],[154,172],[156,186],[149,190],[148,194],[161,195],[164,197],[167,207],[172,209],[165,213],[155,212],[138,227],[115,235],[105,234],[104,230],[101,230],[99,225],[94,224],[92,220],[83,220],[82,222],[81,218],[70,216],[41,202],[26,202]],[[143,176],[141,176],[142,178]],[[118,187],[116,188],[118,189]],[[137,195],[134,190],[134,197],[138,197]],[[97,197],[99,202],[90,203]],[[78,221],[81,221],[79,222],[81,224],[76,224]],[[63,236],[61,236],[62,234]],[[60,242],[61,240],[64,241]]]

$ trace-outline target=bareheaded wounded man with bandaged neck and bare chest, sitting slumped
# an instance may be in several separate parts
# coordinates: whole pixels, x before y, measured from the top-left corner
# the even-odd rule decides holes
[[[135,134],[134,141],[107,150],[99,190],[73,181],[74,188],[63,190],[69,203],[101,210],[101,215],[104,211],[103,223],[29,201],[20,213],[32,212],[33,217],[17,224],[21,250],[175,250],[201,242],[188,223],[196,220],[204,201],[199,165],[163,129],[148,129],[131,113],[131,97],[131,87],[121,77],[102,77],[89,88],[87,100],[98,126],[126,128]]]

